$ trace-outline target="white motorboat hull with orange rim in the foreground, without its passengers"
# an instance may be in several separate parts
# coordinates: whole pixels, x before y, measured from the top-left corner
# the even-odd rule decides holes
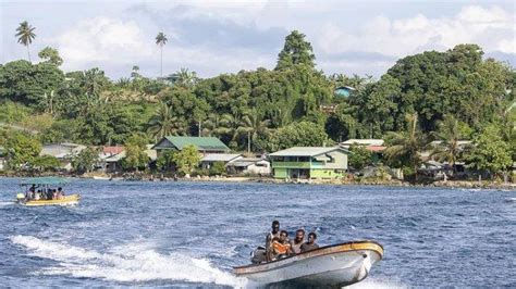
[[[364,280],[383,257],[374,241],[322,247],[272,262],[234,267],[238,277],[279,287],[342,287]]]

